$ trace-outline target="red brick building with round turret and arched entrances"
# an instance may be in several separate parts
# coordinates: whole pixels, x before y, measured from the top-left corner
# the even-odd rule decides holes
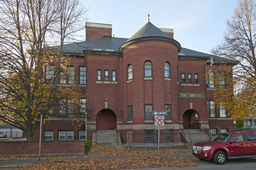
[[[155,110],[168,114],[161,126],[167,142],[181,141],[175,134],[184,129],[206,130],[212,135],[236,129],[227,110],[214,104],[213,72],[209,71],[222,63],[232,69],[235,63],[185,49],[173,35],[173,29],[158,29],[147,22],[130,39],[116,38],[112,37],[112,25],[87,23],[86,41],[64,46],[64,53],[70,56],[70,75],[60,83],[65,87],[76,84],[81,93],[87,93],[81,105],[85,106],[86,100],[92,109],[86,126],[89,140],[99,130],[113,130],[123,142],[128,133],[140,134],[138,142],[156,142]],[[85,124],[50,119],[44,126],[44,138],[84,139]]]

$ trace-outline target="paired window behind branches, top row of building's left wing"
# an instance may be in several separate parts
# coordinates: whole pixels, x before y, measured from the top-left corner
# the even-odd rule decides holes
[[[67,68],[61,72],[60,83],[63,83],[63,84],[74,83],[74,66],[67,66]]]

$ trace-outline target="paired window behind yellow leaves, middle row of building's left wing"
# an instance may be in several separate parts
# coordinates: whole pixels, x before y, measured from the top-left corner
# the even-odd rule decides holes
[[[62,116],[72,117],[74,114],[74,100],[60,99],[59,108],[60,108],[60,114]]]

